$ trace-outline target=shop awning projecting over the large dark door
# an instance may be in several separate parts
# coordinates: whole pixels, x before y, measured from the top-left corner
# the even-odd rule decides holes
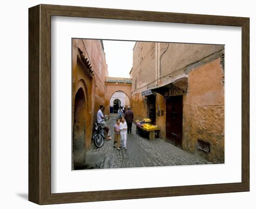
[[[188,75],[182,75],[166,84],[152,88],[151,91],[162,94],[164,97],[170,97],[182,95],[184,92],[187,92],[187,89]]]

